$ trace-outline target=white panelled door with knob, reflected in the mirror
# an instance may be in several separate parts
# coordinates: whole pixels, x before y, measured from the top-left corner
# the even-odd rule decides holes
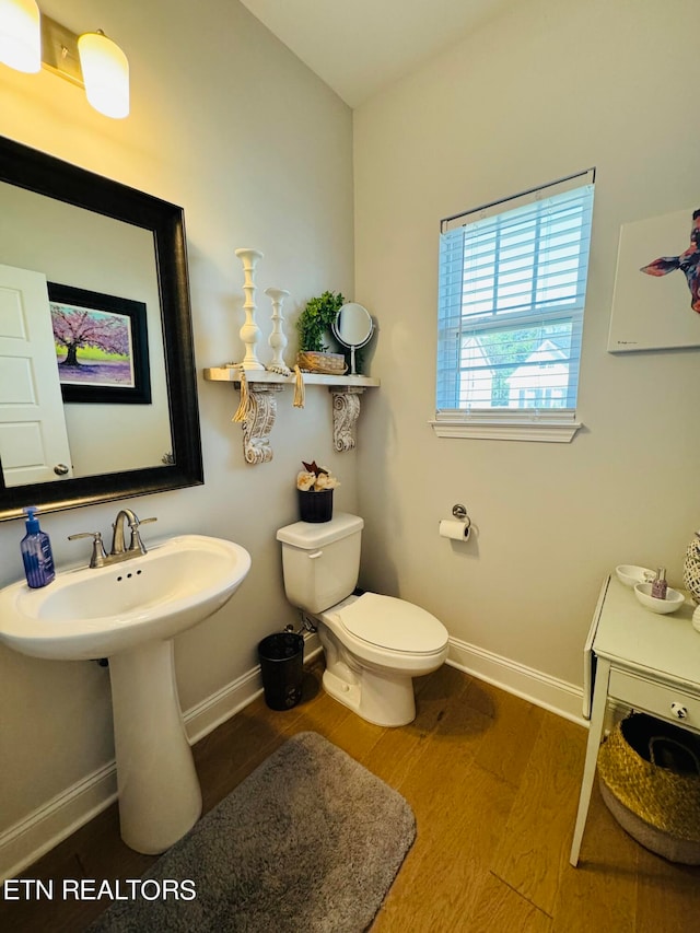
[[[0,266],[0,463],[4,485],[70,479],[46,276]]]

